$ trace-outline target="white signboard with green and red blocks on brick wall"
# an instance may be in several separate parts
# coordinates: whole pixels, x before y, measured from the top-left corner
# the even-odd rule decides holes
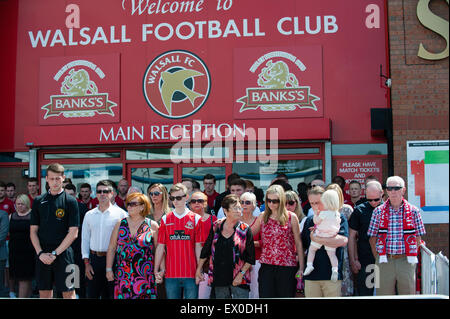
[[[424,223],[449,220],[449,141],[408,141],[408,201],[420,207]]]

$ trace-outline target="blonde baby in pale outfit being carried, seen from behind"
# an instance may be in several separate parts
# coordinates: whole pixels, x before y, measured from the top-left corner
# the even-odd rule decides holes
[[[327,190],[320,199],[325,210],[314,212],[314,235],[318,237],[331,238],[337,235],[341,227],[341,217],[339,213],[339,195],[334,190]],[[321,244],[311,241],[306,259],[306,269],[303,275],[309,275],[313,270],[313,262],[316,251],[322,247]],[[325,250],[331,262],[331,280],[338,279],[338,259],[336,257],[336,248],[325,246]]]

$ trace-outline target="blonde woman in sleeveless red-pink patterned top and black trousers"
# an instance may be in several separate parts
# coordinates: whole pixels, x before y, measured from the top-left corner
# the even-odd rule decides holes
[[[259,297],[295,297],[296,277],[303,276],[305,263],[298,217],[286,210],[286,195],[280,185],[267,189],[265,201],[265,211],[254,228],[255,233],[261,232]]]

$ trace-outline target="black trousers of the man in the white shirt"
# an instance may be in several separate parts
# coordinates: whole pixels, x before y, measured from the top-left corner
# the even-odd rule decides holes
[[[94,275],[87,280],[87,297],[92,299],[114,299],[114,281],[106,280],[106,256],[89,255]]]

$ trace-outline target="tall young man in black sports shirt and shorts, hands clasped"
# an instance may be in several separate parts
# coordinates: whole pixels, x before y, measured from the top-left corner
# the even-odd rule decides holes
[[[70,247],[77,238],[80,216],[78,203],[63,189],[64,167],[50,164],[45,177],[50,189],[33,201],[30,238],[36,250],[36,281],[40,298],[53,297],[53,283],[65,299],[75,299],[74,284],[66,272],[74,264]],[[76,278],[76,276],[75,276]]]

